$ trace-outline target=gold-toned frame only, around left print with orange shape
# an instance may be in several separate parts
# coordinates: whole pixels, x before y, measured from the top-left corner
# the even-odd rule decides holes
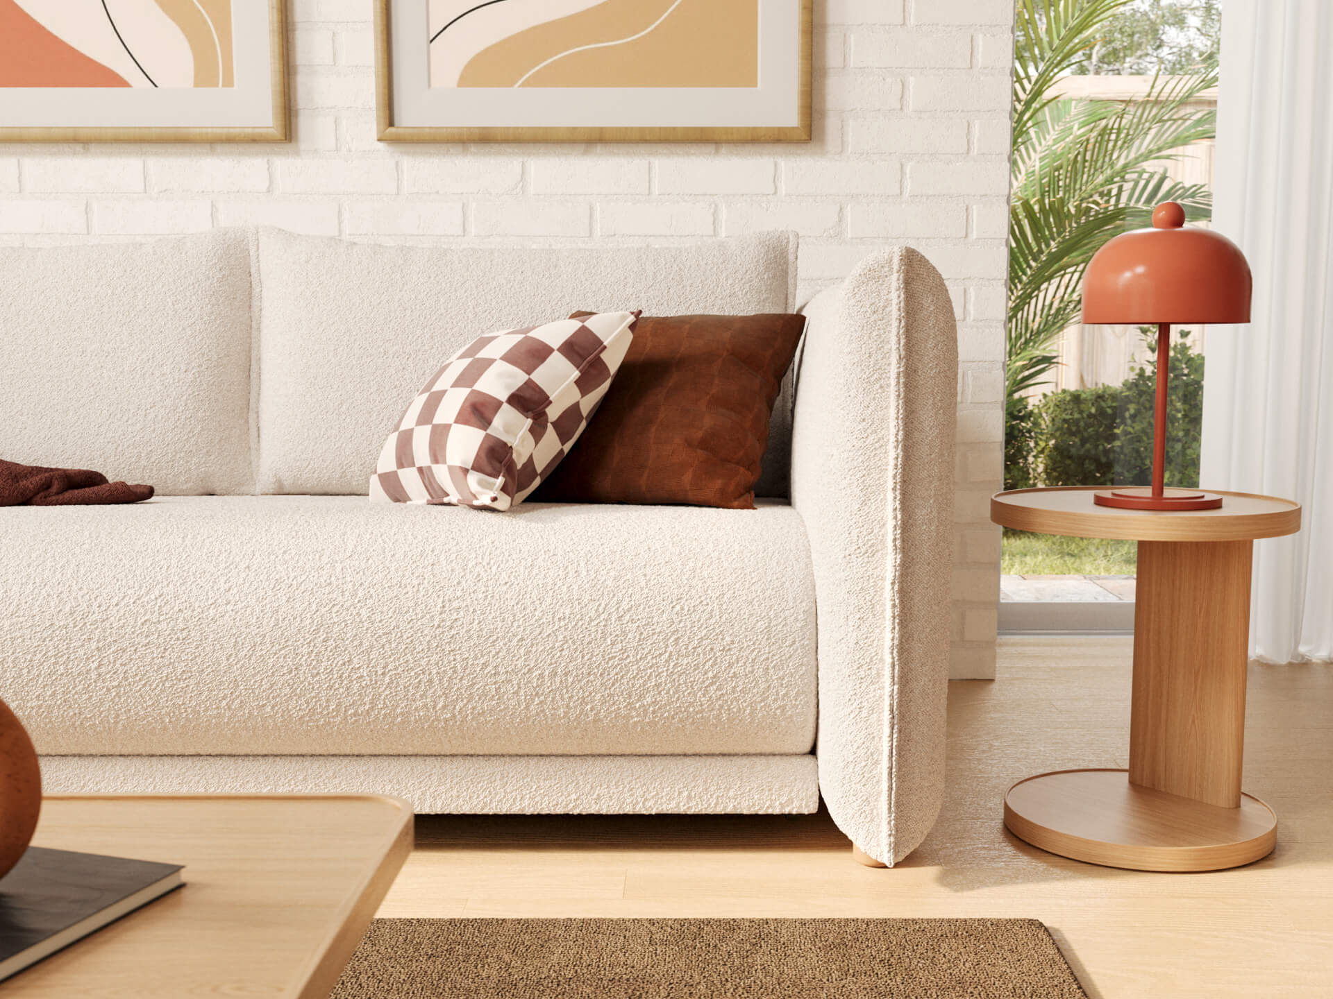
[[[261,9],[263,0],[236,0],[247,11]],[[256,7],[249,7],[255,4]],[[200,8],[203,9],[203,8]],[[0,143],[285,143],[291,137],[287,93],[287,3],[268,0],[269,85],[267,103],[269,125],[4,125]],[[207,16],[207,15],[205,15]],[[257,19],[256,19],[257,20]],[[259,25],[257,25],[259,27]],[[119,32],[117,32],[119,37]],[[215,35],[216,40],[216,35]],[[129,52],[128,47],[125,49]],[[131,57],[133,57],[131,55]],[[261,56],[260,56],[261,59]],[[137,60],[136,60],[137,63]],[[221,61],[219,63],[221,67]],[[156,87],[156,84],[155,84]],[[51,88],[57,89],[57,88]],[[85,88],[60,88],[69,93],[89,93]],[[181,88],[193,89],[193,88]],[[212,87],[209,87],[212,89]],[[257,89],[257,88],[256,88]],[[4,89],[0,89],[4,95]],[[255,95],[256,103],[260,96]]]

